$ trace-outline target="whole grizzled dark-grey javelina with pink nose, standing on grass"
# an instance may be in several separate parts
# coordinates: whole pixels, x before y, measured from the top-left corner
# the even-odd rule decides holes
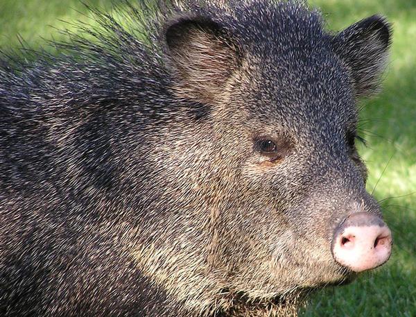
[[[390,256],[354,146],[383,17],[327,33],[297,2],[162,9],[3,58],[1,316],[295,314]]]

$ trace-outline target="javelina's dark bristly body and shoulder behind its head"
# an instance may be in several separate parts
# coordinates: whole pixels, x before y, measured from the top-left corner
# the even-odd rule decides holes
[[[118,237],[134,232],[128,166],[146,164],[168,78],[139,40],[122,58],[81,41],[76,60],[40,53],[0,70],[1,316],[147,316],[148,298],[166,297]]]

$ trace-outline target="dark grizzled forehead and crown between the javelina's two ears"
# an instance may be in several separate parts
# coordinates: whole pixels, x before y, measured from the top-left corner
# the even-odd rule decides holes
[[[349,70],[331,47],[331,36],[316,12],[281,4],[246,32],[251,94],[245,100],[255,117],[295,128],[354,126],[356,108]],[[332,127],[332,128],[331,128]]]

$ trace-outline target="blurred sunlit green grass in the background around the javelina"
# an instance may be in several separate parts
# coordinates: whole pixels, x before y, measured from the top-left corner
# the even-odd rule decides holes
[[[92,6],[105,8],[110,8],[110,2],[89,0]],[[368,189],[376,187],[374,195],[383,200],[395,246],[388,264],[348,286],[316,293],[301,316],[416,316],[416,1],[309,3],[322,8],[328,28],[333,30],[374,13],[382,13],[393,23],[383,91],[361,103],[362,135],[369,146],[360,151],[370,171]],[[90,16],[78,0],[1,0],[0,48],[18,47],[17,33],[29,46],[38,48],[43,42],[40,37],[62,37],[54,28],[73,30],[60,19],[91,23]]]

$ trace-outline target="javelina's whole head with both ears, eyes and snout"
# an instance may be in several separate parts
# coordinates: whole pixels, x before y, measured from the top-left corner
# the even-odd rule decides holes
[[[356,264],[333,242],[352,240],[340,226],[358,213],[357,228],[387,229],[355,139],[356,98],[377,87],[390,26],[373,16],[327,33],[318,12],[267,2],[193,8],[164,30],[173,94],[194,116],[178,123],[164,160],[179,169],[166,180],[192,211],[180,222],[194,232],[181,236],[192,268],[177,285],[202,285],[203,275],[209,286],[196,298],[205,287],[217,304],[221,290],[254,305],[343,282],[390,255]],[[388,230],[375,241],[390,248]]]

